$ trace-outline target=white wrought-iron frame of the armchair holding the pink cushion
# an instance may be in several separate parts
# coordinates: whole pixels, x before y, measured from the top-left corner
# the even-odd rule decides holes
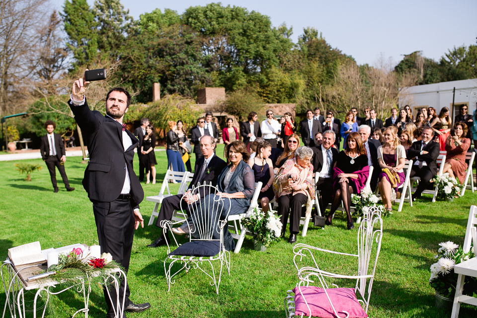
[[[359,295],[361,299],[358,300],[357,298],[355,298],[353,302],[356,303],[359,309],[363,310],[364,308],[364,312],[367,312],[369,300],[371,297],[371,290],[373,287],[376,264],[378,262],[378,257],[381,250],[382,238],[383,220],[381,219],[381,213],[378,208],[372,207],[369,209],[369,213],[367,213],[364,219],[361,221],[361,224],[358,229],[357,254],[335,252],[302,243],[296,244],[293,248],[293,252],[295,254],[293,257],[293,261],[295,263],[295,267],[298,270],[299,282],[294,289],[295,292],[293,290],[287,291],[287,296],[285,298],[286,316],[295,317],[295,315],[297,315],[303,317],[304,315],[308,315],[308,317],[312,317],[314,310],[316,310],[318,307],[321,307],[321,309],[327,310],[328,314],[330,315],[334,314],[336,317],[339,318],[348,317],[349,314],[348,311],[346,311],[347,308],[336,308],[331,302],[329,296],[329,293],[335,294],[336,292],[339,292],[343,289],[330,289],[325,280],[325,277],[329,277],[328,279],[356,280],[356,285],[352,289],[354,291],[353,295],[354,297]],[[343,275],[320,269],[318,267],[318,261],[320,258],[314,255],[320,252],[339,254],[350,258],[349,263],[351,264],[354,262],[357,265],[356,274]],[[312,263],[311,266],[300,267],[298,262],[304,261],[305,258],[309,260],[307,262],[308,264]],[[320,291],[321,300],[319,303],[308,303],[303,294],[303,289],[310,287],[310,283],[315,283],[315,280],[318,280],[317,284],[321,285],[321,287],[323,288],[322,292]],[[300,300],[300,298],[302,300],[300,301],[300,307],[301,310],[303,310],[301,313],[296,313],[296,297],[297,300]],[[340,296],[334,295],[333,297]],[[349,300],[350,298],[346,299],[346,301],[348,302]],[[360,305],[363,308],[361,308]],[[306,311],[308,311],[308,314],[305,314]]]

